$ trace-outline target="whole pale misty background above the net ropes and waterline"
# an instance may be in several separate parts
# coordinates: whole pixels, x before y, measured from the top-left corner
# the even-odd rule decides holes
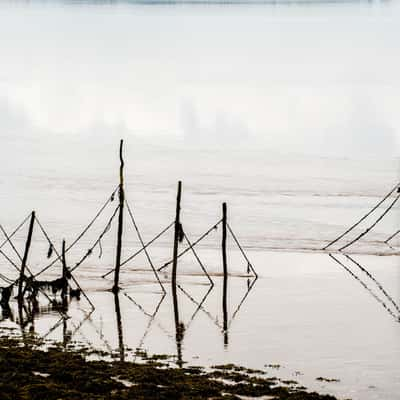
[[[73,238],[118,182],[123,138],[148,237],[181,179],[194,233],[227,201],[253,248],[322,247],[398,182],[399,17],[396,2],[2,2],[2,223],[34,207]]]

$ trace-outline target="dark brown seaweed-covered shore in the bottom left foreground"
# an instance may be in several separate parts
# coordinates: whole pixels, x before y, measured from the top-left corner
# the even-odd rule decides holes
[[[1,400],[237,399],[335,400],[331,395],[277,385],[275,378],[235,365],[206,371],[145,362],[88,361],[87,354],[52,346],[47,351],[0,338]],[[156,357],[159,358],[159,357]],[[163,358],[163,357],[162,357]]]

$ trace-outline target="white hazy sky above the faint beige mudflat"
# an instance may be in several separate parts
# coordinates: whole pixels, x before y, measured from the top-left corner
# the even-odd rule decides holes
[[[0,137],[400,154],[399,18],[394,3],[2,2]]]

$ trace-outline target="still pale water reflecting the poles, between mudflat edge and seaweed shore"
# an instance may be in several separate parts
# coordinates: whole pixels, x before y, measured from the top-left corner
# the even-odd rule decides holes
[[[114,296],[104,291],[112,281],[104,282],[98,270],[91,273],[90,280],[89,274],[82,272],[77,278],[96,307],[93,313],[84,299],[72,301],[71,318],[63,330],[60,314],[43,310],[34,323],[35,332],[38,337],[77,341],[91,349],[112,352],[117,359],[122,343],[126,359],[132,359],[128,349],[141,348],[150,354],[173,355],[177,362],[181,358],[191,365],[234,362],[266,369],[272,376],[296,380],[340,398],[395,398],[399,390],[398,312],[374,282],[344,256],[337,257],[373,295],[328,255],[249,255],[260,277],[252,285],[253,280],[242,275],[245,270],[239,269],[242,274],[229,278],[227,333],[222,329],[222,278],[212,275],[215,286],[209,291],[205,278],[181,272],[178,300],[185,332],[180,350],[169,274],[162,275],[166,296],[149,272],[122,275],[119,331]],[[398,260],[376,256],[354,259],[368,268],[398,303]],[[340,382],[320,383],[316,381],[320,376]]]

